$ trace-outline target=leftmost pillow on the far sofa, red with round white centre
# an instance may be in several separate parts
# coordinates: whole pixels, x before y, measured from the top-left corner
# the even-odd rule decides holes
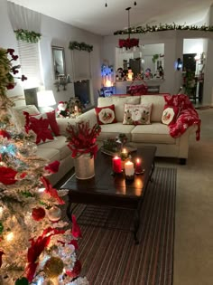
[[[106,107],[96,107],[97,123],[99,125],[106,125],[116,123],[115,105]]]

